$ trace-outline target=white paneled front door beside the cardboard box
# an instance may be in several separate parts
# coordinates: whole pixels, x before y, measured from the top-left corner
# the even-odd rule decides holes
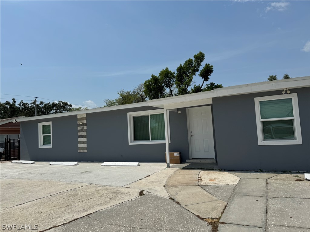
[[[191,158],[215,159],[211,106],[187,110]]]

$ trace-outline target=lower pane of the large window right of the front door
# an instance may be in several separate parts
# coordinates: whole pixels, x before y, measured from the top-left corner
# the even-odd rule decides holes
[[[293,119],[263,121],[262,125],[264,140],[295,139]]]

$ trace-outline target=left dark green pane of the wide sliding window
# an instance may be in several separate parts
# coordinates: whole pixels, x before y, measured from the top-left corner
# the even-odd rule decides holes
[[[148,115],[133,117],[134,140],[150,140]]]

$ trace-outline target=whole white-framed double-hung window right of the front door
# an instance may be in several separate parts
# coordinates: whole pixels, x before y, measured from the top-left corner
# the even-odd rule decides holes
[[[297,93],[254,99],[258,145],[302,144]]]

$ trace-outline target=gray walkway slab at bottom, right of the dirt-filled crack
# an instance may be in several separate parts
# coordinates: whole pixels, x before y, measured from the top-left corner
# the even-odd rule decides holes
[[[265,228],[266,197],[232,195],[220,222]]]

